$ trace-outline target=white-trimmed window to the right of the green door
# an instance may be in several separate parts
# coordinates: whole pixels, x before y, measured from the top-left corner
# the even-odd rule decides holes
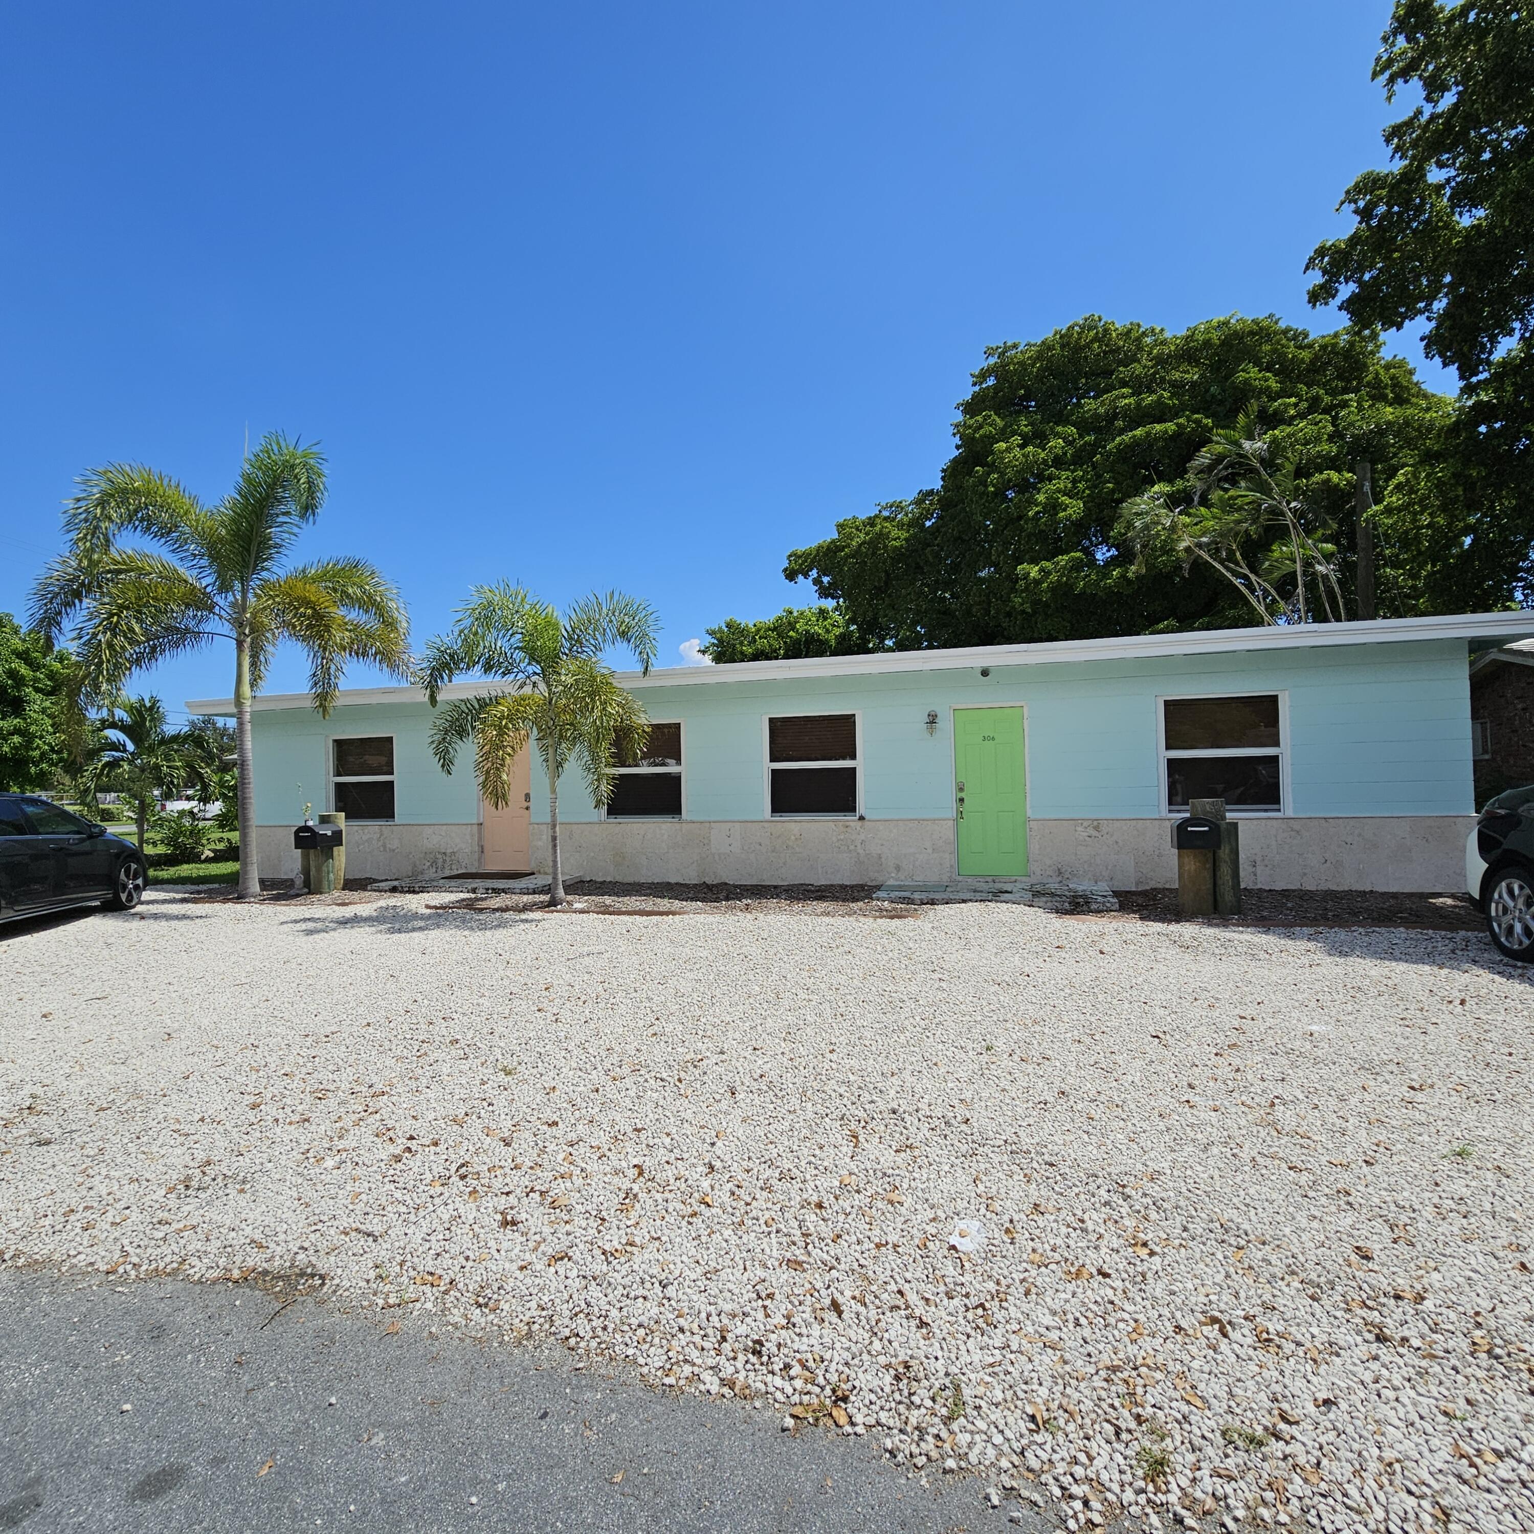
[[[1226,698],[1163,698],[1166,808],[1224,799],[1244,813],[1284,813],[1282,707],[1276,692]]]

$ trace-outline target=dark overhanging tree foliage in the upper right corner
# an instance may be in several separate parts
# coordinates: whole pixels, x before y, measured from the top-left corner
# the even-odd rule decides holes
[[[1427,321],[1462,385],[1457,488],[1528,532],[1534,502],[1534,11],[1522,0],[1396,0],[1374,60],[1391,164],[1342,195],[1355,225],[1318,245],[1315,304],[1356,324]]]

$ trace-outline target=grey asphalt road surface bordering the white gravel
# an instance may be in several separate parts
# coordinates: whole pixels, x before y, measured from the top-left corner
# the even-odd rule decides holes
[[[252,1284],[0,1270],[0,1531],[1019,1526],[1019,1503],[923,1488],[871,1436],[790,1436],[561,1348],[387,1319]]]

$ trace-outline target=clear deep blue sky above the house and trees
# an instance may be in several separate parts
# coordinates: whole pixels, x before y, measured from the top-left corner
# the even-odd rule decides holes
[[[216,499],[249,423],[322,443],[302,552],[373,558],[417,638],[476,580],[618,586],[676,664],[936,483],[988,344],[1335,324],[1302,267],[1401,112],[1388,9],[6,6],[0,609],[83,469]]]

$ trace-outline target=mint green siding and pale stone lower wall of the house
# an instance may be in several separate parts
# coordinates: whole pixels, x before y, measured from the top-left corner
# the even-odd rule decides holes
[[[1243,828],[1253,885],[1324,879],[1315,887],[1453,888],[1473,811],[1462,640],[994,666],[989,676],[976,667],[637,690],[650,718],[683,723],[683,821],[604,822],[578,773],[569,773],[560,784],[560,821],[569,833],[572,877],[951,877],[951,715],[968,706],[1026,710],[1035,874],[1106,877],[1120,888],[1172,882],[1158,744],[1158,698],[1167,695],[1285,695],[1285,813],[1249,818]],[[928,710],[937,713],[933,735]],[[867,819],[773,821],[765,810],[762,719],[821,712],[859,715]],[[330,738],[391,733],[396,824],[350,828],[348,848],[370,851],[356,862],[348,851],[348,871],[364,874],[364,861],[379,862],[380,876],[448,871],[382,867],[391,858],[460,858],[457,867],[472,867],[477,841],[471,847],[468,836],[425,836],[431,827],[477,833],[480,813],[468,755],[460,753],[451,776],[433,761],[431,718],[423,701],[342,703],[330,719],[308,709],[258,709],[258,822],[290,828],[305,802],[328,807]],[[548,790],[537,756],[532,813],[534,859],[542,845],[546,867]],[[1365,834],[1358,828],[1364,821],[1390,824]],[[402,827],[422,828],[419,847],[382,834]]]

